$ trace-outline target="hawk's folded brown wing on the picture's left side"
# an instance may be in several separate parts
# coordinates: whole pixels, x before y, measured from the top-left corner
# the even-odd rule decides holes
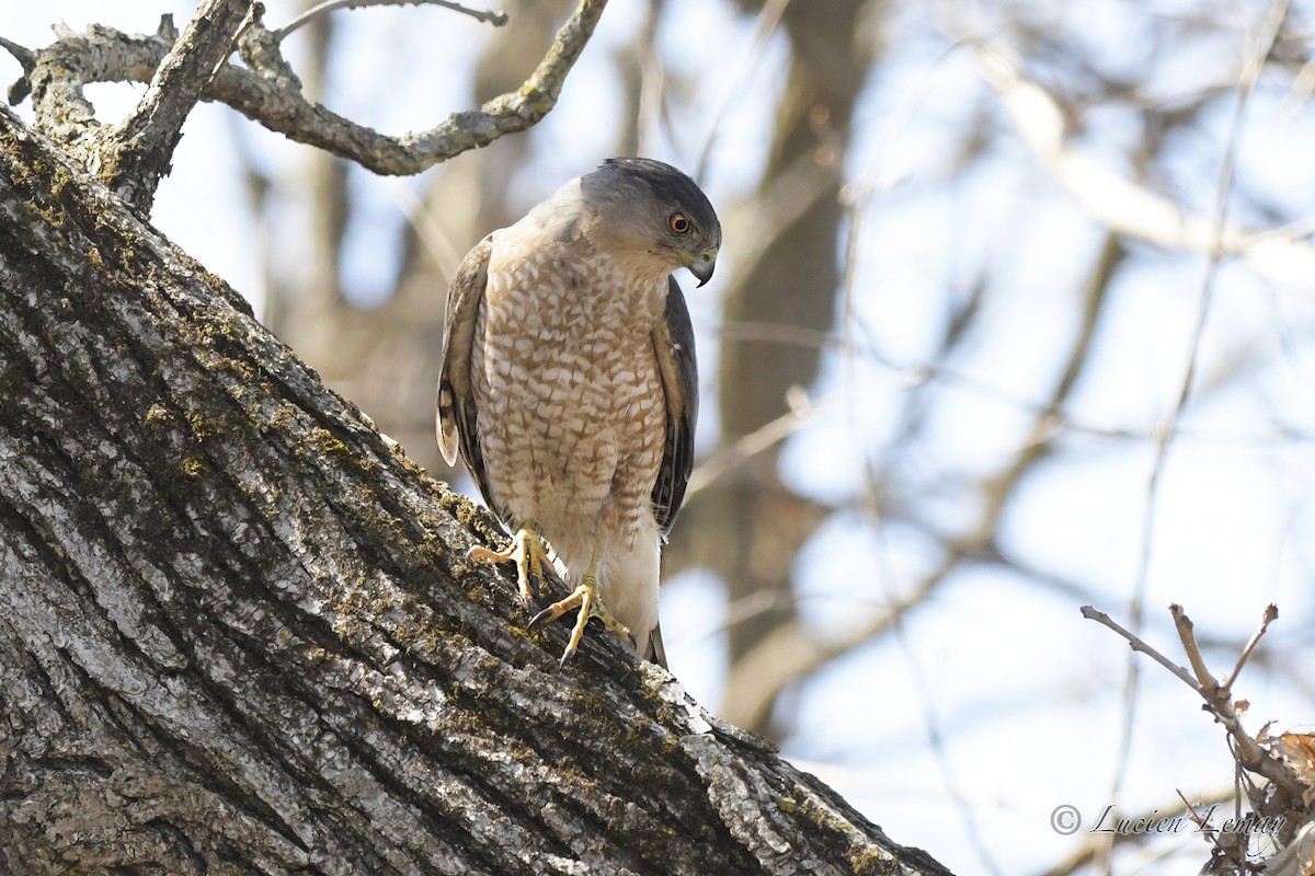
[[[489,251],[493,235],[488,235],[466,253],[452,285],[447,290],[447,320],[443,323],[443,356],[438,372],[438,448],[448,465],[456,462],[460,450],[466,468],[489,503],[488,475],[480,453],[479,411],[471,390],[471,351],[475,345],[475,327],[479,323],[480,303],[488,285]],[[489,503],[489,507],[493,507]]]

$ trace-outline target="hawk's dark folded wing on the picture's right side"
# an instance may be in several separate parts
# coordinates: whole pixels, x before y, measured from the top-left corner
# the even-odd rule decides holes
[[[685,485],[694,468],[694,423],[698,420],[698,362],[694,360],[694,327],[685,296],[668,277],[667,309],[652,331],[658,372],[667,397],[667,436],[661,468],[654,485],[654,515],[663,535],[685,499]]]

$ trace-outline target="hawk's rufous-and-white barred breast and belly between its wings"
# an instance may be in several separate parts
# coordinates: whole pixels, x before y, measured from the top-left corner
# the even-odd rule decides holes
[[[618,274],[598,253],[563,269],[551,251],[496,243],[504,246],[490,259],[472,356],[494,510],[513,528],[538,524],[575,580],[597,549],[609,608],[630,626],[651,628],[659,541],[651,494],[665,427],[651,332],[664,278]],[[638,577],[648,580],[623,580]],[[618,592],[636,587],[644,594]],[[643,611],[627,609],[630,602]],[[625,616],[636,612],[644,617]]]

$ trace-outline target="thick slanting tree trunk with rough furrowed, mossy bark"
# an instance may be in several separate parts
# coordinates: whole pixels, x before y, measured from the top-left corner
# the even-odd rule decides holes
[[[596,632],[0,110],[0,867],[943,873]]]

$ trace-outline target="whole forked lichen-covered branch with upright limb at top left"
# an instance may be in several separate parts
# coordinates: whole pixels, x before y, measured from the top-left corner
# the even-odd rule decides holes
[[[85,168],[96,168],[103,181],[117,184],[139,202],[135,193],[154,192],[154,184],[143,185],[133,168],[150,155],[150,167],[158,171],[155,180],[167,172],[176,129],[185,117],[180,110],[189,110],[197,97],[226,104],[289,139],[387,175],[418,173],[531,127],[556,105],[567,74],[606,5],[606,0],[580,0],[543,60],[515,91],[498,95],[479,109],[454,112],[429,130],[400,135],[380,134],[310,101],[280,49],[281,38],[296,22],[271,30],[262,20],[260,4],[250,0],[210,0],[181,38],[166,18],[150,35],[125,34],[101,25],[92,25],[82,34],[57,28],[59,38],[45,49],[28,51],[9,43],[4,47],[24,67],[24,77],[11,88],[11,100],[30,95],[42,133]],[[234,13],[245,14],[249,8],[251,14],[245,22],[241,16],[234,20]],[[460,11],[471,12],[464,7]],[[492,13],[479,16],[493,24],[500,21]],[[199,38],[188,42],[193,29],[200,29]],[[226,63],[234,34],[242,64]],[[162,79],[163,85],[164,77],[168,88],[156,88],[155,80]],[[95,108],[83,95],[84,85],[103,81],[153,83],[153,88],[128,123],[107,127],[97,122]],[[138,205],[149,206],[149,198]]]

